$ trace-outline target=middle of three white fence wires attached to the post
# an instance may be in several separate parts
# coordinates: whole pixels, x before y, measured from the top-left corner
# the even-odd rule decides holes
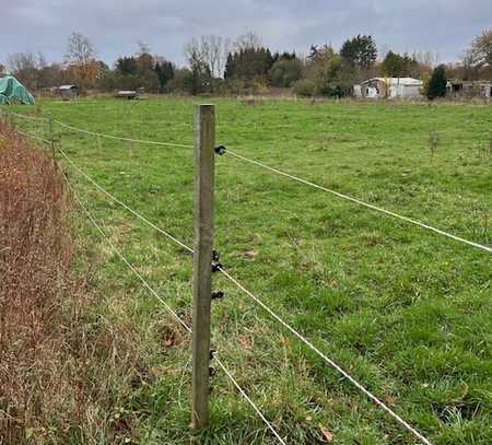
[[[151,221],[149,221],[145,216],[142,216],[139,212],[134,211],[122,201],[114,197],[107,190],[105,190],[101,185],[98,185],[94,179],[92,179],[85,172],[83,172],[61,149],[63,157],[73,165],[87,180],[90,180],[98,190],[109,197],[114,202],[122,206],[125,209],[130,211],[133,215],[138,216],[141,221],[149,224],[151,227],[157,230],[160,233],[164,234],[167,238],[176,243],[178,246],[185,248],[188,253],[194,253],[194,249],[187,246],[185,243],[180,242],[168,232],[159,227]],[[285,329],[288,329],[294,337],[300,339],[305,346],[307,346],[312,351],[314,351],[317,355],[319,355],[328,365],[335,368],[338,373],[340,373],[344,378],[351,382],[358,389],[360,389],[365,396],[367,396],[371,400],[373,400],[377,406],[383,408],[386,412],[388,412],[398,423],[400,423],[405,429],[411,432],[415,437],[418,437],[423,444],[432,445],[432,443],[425,438],[421,433],[419,433],[413,426],[411,426],[407,421],[405,421],[400,415],[398,415],[395,411],[393,411],[386,403],[384,403],[380,399],[374,396],[371,391],[368,391],[362,384],[360,384],[355,378],[353,378],[350,374],[348,374],[340,365],[338,365],[333,360],[329,359],[325,353],[323,353],[318,348],[316,348],[309,340],[307,340],[302,333],[295,330],[291,325],[289,325],[282,317],[280,317],[273,309],[271,309],[266,303],[263,303],[258,296],[249,292],[239,281],[237,281],[234,277],[232,277],[227,271],[225,271],[222,267],[219,268],[219,271],[233,284],[235,284],[241,291],[243,291],[247,296],[249,296],[254,302],[256,302],[260,307],[262,307],[270,316],[276,319],[280,325],[282,325]]]

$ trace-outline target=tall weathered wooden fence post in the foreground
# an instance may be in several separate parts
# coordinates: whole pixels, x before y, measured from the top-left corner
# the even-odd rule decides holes
[[[195,255],[191,428],[209,423],[210,303],[212,293],[215,107],[199,105],[195,114]]]

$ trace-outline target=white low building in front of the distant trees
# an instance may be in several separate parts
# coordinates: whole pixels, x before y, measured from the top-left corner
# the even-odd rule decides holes
[[[362,98],[420,98],[422,86],[422,81],[412,78],[373,78],[353,90]]]

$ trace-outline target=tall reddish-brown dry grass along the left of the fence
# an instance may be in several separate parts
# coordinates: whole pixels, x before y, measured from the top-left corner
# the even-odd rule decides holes
[[[131,436],[130,422],[110,423],[124,400],[107,387],[121,384],[125,397],[137,341],[95,326],[72,271],[67,202],[49,156],[0,122],[0,444]]]

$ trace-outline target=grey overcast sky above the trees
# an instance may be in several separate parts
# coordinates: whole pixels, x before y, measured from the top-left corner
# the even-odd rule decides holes
[[[113,65],[137,42],[184,63],[194,36],[234,38],[248,31],[273,50],[305,54],[312,44],[339,47],[372,34],[380,49],[433,51],[455,61],[473,36],[492,26],[492,0],[0,0],[0,61],[8,54],[43,51],[61,60],[73,32],[86,35]]]

